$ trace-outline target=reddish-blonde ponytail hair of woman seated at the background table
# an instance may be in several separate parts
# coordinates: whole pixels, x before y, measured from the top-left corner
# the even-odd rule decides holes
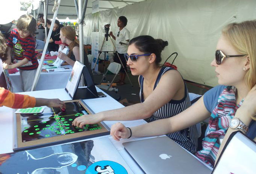
[[[64,26],[61,28],[61,32],[63,34],[63,36],[67,37],[67,39],[72,40],[73,42],[70,43],[69,50],[70,52],[68,53],[68,57],[70,57],[71,55],[71,51],[73,50],[73,48],[75,46],[79,47],[79,40],[76,39],[76,30],[74,30],[74,28],[70,27],[70,26]]]

